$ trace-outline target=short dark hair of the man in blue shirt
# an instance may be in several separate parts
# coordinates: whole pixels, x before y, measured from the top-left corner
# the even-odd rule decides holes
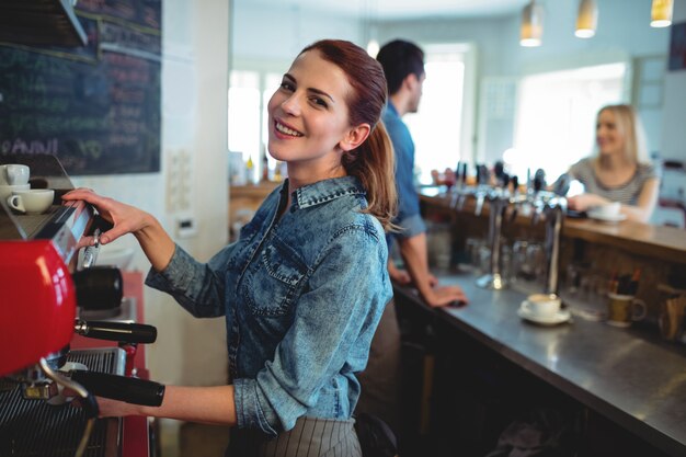
[[[408,75],[421,78],[424,75],[424,52],[414,43],[393,39],[385,44],[376,59],[384,67],[388,93],[398,92]]]

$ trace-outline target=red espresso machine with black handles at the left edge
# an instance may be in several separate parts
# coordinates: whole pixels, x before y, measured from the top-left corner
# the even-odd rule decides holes
[[[28,165],[31,186],[54,188],[55,201],[24,215],[0,198],[0,456],[121,456],[123,421],[96,419],[95,396],[161,404],[164,386],[124,376],[136,345],[157,331],[79,318],[122,301],[118,270],[94,265],[98,243],[80,245],[105,222],[83,202],[61,203],[73,186],[55,157],[0,156],[2,163]],[[119,345],[70,351],[75,334]]]

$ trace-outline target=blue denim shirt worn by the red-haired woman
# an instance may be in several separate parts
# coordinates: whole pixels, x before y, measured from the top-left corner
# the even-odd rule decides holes
[[[240,427],[268,435],[299,416],[348,419],[392,288],[379,221],[353,176],[272,192],[240,238],[208,263],[180,247],[147,284],[196,317],[226,315]]]

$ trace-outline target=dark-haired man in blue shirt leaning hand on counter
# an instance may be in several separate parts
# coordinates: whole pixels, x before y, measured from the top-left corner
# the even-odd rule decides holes
[[[424,53],[416,45],[393,41],[379,50],[377,60],[384,67],[388,84],[388,104],[382,121],[396,151],[396,185],[398,187],[398,217],[393,222],[401,228],[387,235],[389,247],[398,242],[404,269],[388,262],[388,273],[397,284],[413,284],[422,299],[431,307],[466,301],[457,286],[439,287],[428,271],[426,225],[420,214],[420,198],[414,187],[414,142],[401,117],[418,111],[422,98]],[[448,249],[449,247],[446,247]],[[400,330],[391,300],[385,308],[374,334],[367,368],[359,376],[362,392],[357,413],[366,412],[382,419],[398,435],[400,449],[404,435],[400,400]]]

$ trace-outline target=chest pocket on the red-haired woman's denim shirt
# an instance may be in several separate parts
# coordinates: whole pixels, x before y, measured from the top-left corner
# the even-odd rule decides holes
[[[245,272],[239,294],[256,316],[285,316],[298,297],[307,272],[298,252],[273,236]]]

